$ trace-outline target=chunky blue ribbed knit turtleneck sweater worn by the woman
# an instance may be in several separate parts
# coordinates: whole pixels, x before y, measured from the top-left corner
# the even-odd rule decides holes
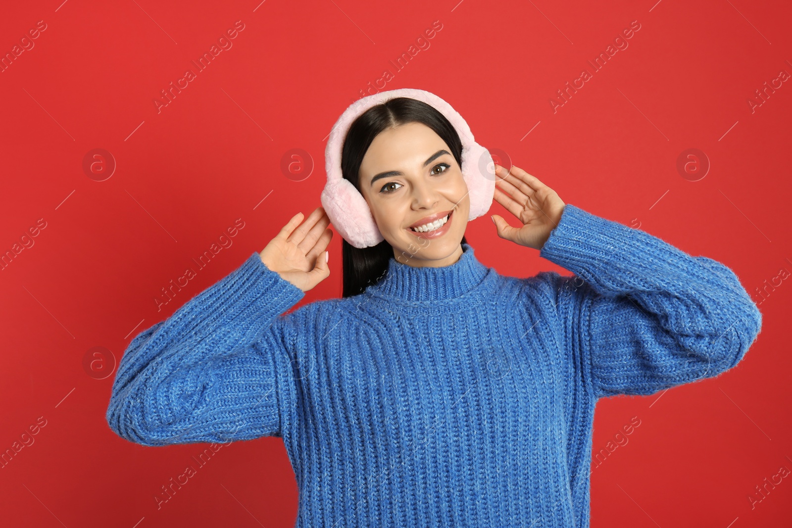
[[[760,332],[725,265],[570,204],[539,254],[572,277],[463,249],[285,315],[303,291],[253,253],[135,336],[109,426],[146,446],[282,437],[298,527],[585,527],[597,399],[714,377]]]

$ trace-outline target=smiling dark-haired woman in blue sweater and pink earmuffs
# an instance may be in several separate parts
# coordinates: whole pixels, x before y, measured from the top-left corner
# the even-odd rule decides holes
[[[333,127],[326,207],[132,340],[108,423],[147,446],[282,437],[297,526],[588,526],[596,401],[729,370],[761,313],[725,265],[522,169],[476,180],[489,154],[439,97],[377,96]],[[464,233],[493,198],[520,221],[493,215],[498,236],[574,275],[481,264]],[[284,315],[329,276],[331,219],[343,298]]]

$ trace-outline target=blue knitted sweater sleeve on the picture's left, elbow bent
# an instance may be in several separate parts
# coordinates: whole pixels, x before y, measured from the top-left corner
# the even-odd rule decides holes
[[[279,398],[294,393],[282,314],[303,296],[253,253],[140,332],[112,384],[112,431],[145,446],[280,436]]]

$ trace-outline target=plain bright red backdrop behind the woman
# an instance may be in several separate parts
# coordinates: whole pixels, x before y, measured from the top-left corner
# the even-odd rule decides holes
[[[277,438],[223,446],[158,509],[154,496],[208,445],[116,436],[108,358],[320,205],[330,127],[384,70],[382,89],[443,97],[478,142],[565,203],[722,261],[761,302],[760,337],[733,370],[600,401],[595,450],[634,416],[640,426],[592,469],[592,526],[790,522],[792,477],[748,500],[792,469],[792,286],[767,286],[792,271],[792,85],[756,93],[792,73],[788,2],[61,1],[0,17],[2,55],[46,24],[0,73],[0,252],[35,242],[0,272],[0,451],[46,420],[0,469],[4,526],[292,526],[295,477]],[[236,21],[233,46],[158,112],[161,90]],[[397,70],[390,61],[435,21],[429,47]],[[629,46],[595,73],[587,61],[633,21]],[[592,78],[554,111],[584,68]],[[107,165],[82,168],[97,148],[116,163],[101,181]],[[295,148],[305,165],[284,172]],[[676,168],[689,148],[709,160],[702,179],[695,165]],[[492,213],[516,224],[497,203]],[[158,310],[161,288],[237,218],[233,245]],[[563,272],[497,237],[486,216],[466,235],[501,274]],[[329,255],[330,278],[303,302],[341,295],[337,234]],[[108,361],[86,367],[94,347]]]

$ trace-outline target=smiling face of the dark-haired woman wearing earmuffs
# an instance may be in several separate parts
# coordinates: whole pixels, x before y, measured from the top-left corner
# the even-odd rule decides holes
[[[451,149],[431,128],[406,123],[377,135],[360,164],[360,192],[396,260],[415,267],[459,260],[470,198]],[[418,226],[423,232],[411,229]]]

